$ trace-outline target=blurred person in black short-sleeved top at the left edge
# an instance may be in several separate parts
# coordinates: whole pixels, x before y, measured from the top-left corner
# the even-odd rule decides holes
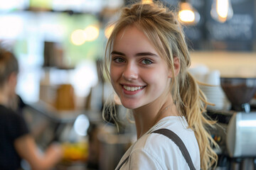
[[[62,158],[63,151],[53,144],[41,153],[22,115],[18,113],[16,84],[18,61],[0,43],[0,169],[21,169],[25,159],[31,169],[50,169]]]

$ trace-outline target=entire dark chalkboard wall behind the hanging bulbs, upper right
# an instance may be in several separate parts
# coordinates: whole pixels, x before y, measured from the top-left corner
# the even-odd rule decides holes
[[[181,0],[161,1],[176,11],[181,2]],[[213,0],[187,1],[201,16],[196,25],[185,25],[183,28],[190,48],[193,50],[253,50],[253,45],[256,43],[255,0],[230,0],[234,14],[233,18],[225,23],[215,21],[210,16]]]

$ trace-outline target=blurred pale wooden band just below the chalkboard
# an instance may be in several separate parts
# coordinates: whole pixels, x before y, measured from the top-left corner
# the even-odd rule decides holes
[[[256,77],[256,52],[191,52],[191,67],[205,64],[221,77]]]

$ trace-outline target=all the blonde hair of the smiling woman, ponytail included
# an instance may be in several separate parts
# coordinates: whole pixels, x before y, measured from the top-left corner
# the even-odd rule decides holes
[[[217,144],[206,130],[206,127],[212,126],[214,122],[204,115],[207,106],[206,96],[187,71],[191,64],[191,57],[181,24],[175,13],[160,3],[134,4],[130,8],[123,8],[107,41],[105,72],[109,78],[108,67],[114,39],[119,31],[127,26],[136,26],[142,30],[171,68],[173,78],[171,79],[170,93],[178,113],[186,118],[188,128],[195,132],[200,149],[201,169],[210,169],[210,167],[216,166],[218,156],[213,151],[213,145],[217,146]],[[178,57],[181,67],[176,77],[174,76],[174,57]],[[112,119],[116,120],[114,117]]]

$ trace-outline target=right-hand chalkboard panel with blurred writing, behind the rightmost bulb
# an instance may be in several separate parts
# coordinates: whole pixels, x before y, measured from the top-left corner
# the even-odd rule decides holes
[[[253,50],[255,40],[255,0],[231,0],[233,18],[220,23],[206,15],[206,40],[223,50]],[[210,11],[211,4],[207,4]],[[220,45],[222,44],[222,45]]]

